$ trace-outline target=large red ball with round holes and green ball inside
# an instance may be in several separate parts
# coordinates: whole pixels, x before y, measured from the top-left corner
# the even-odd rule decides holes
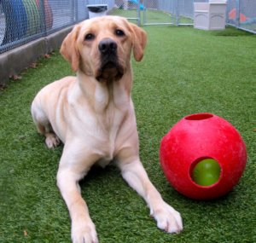
[[[206,165],[196,166],[202,160]],[[212,169],[208,162],[217,166]],[[246,146],[238,131],[211,113],[181,119],[160,143],[160,164],[167,180],[191,199],[210,200],[227,194],[241,178],[246,162]],[[213,176],[207,181],[209,171]]]

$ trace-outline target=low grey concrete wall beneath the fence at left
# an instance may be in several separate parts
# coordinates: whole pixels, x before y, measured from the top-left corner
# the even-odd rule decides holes
[[[18,75],[32,62],[37,61],[39,57],[59,49],[63,39],[72,28],[73,26],[67,27],[59,32],[0,54],[0,85],[7,84],[10,76]]]

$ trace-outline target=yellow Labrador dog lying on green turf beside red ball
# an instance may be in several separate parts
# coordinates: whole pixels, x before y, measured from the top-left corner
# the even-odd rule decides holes
[[[139,159],[131,101],[131,52],[143,59],[146,32],[117,16],[85,20],[67,35],[61,54],[76,77],[47,85],[32,102],[32,118],[48,148],[64,143],[57,185],[72,219],[76,243],[98,242],[79,180],[92,165],[115,161],[125,181],[147,202],[160,229],[178,233],[182,219],[162,200]]]

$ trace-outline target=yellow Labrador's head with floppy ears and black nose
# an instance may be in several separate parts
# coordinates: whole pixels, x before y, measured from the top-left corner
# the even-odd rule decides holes
[[[130,67],[131,51],[143,59],[146,32],[125,18],[104,16],[85,20],[67,35],[61,54],[73,71],[84,72],[98,81],[119,80]]]

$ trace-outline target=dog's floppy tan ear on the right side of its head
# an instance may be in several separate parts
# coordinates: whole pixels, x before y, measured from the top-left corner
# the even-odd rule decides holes
[[[147,44],[147,33],[142,28],[130,23],[132,29],[133,55],[136,61],[142,61]]]

